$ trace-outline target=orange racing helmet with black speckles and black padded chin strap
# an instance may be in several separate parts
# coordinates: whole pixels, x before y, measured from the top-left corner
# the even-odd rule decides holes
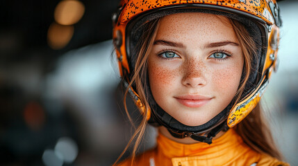
[[[119,62],[120,75],[126,86],[131,82],[134,70],[135,47],[142,33],[142,25],[154,19],[177,12],[207,12],[223,15],[240,21],[254,38],[258,46],[245,93],[238,103],[231,103],[224,111],[206,124],[189,127],[181,124],[163,111],[156,102],[147,113],[149,122],[161,124],[176,138],[191,137],[194,140],[211,143],[212,138],[222,129],[233,127],[243,120],[258,104],[277,66],[279,27],[281,19],[279,6],[275,0],[121,0],[117,12],[113,15],[113,42]],[[138,97],[133,86],[129,87],[135,104],[144,111],[144,101]],[[204,136],[202,136],[204,133]]]

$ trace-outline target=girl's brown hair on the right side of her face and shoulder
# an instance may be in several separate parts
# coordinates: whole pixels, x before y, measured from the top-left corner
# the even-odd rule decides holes
[[[254,44],[254,40],[247,32],[245,26],[243,26],[239,21],[230,19],[230,22],[236,36],[238,37],[238,41],[240,42],[243,54],[245,55],[245,61],[249,59],[250,62],[251,55],[256,55],[256,45]],[[247,62],[245,62],[245,68],[246,71],[244,72],[247,77],[245,77],[245,79],[241,82],[242,85],[240,86],[240,89],[242,92],[244,90],[244,85],[247,82],[249,71],[256,70],[255,68],[251,68],[251,63],[247,64]],[[263,115],[260,102],[254,110],[251,111],[251,113],[249,113],[242,122],[240,122],[240,124],[234,127],[234,129],[242,137],[243,141],[251,147],[251,149],[260,153],[269,154],[270,156],[281,160],[281,153],[276,148],[270,127]]]

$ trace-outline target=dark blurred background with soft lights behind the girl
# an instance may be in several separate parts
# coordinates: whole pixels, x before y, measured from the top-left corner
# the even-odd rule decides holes
[[[117,4],[0,1],[0,165],[117,159],[132,133],[113,58],[110,18]],[[279,70],[262,102],[285,160],[298,165],[298,1],[279,6]],[[154,145],[156,131],[148,133],[142,149]]]

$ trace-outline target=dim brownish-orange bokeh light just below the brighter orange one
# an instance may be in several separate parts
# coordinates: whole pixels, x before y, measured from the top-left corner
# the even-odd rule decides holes
[[[54,50],[65,47],[74,35],[74,26],[52,23],[48,30],[48,44]]]

